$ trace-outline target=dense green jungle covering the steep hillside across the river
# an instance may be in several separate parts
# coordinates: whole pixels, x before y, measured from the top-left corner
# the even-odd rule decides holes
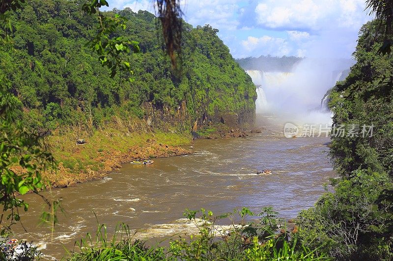
[[[13,48],[0,53],[1,73],[11,80],[10,92],[23,104],[26,124],[35,129],[97,127],[115,114],[142,118],[144,102],[174,114],[186,101],[194,121],[204,113],[213,118],[254,110],[252,80],[233,60],[218,30],[183,23],[178,70],[172,70],[161,25],[153,14],[129,8],[106,12],[128,20],[125,30],[118,28],[111,37],[124,36],[140,47],[139,53],[122,57],[133,74],[111,78],[86,46],[98,23],[82,11],[82,3],[33,0],[11,16]]]

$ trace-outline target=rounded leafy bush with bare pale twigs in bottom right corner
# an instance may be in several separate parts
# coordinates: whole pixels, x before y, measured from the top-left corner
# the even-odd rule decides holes
[[[392,215],[384,211],[390,205],[377,203],[381,193],[393,186],[389,178],[358,170],[349,179],[334,180],[332,184],[334,193],[326,193],[314,208],[299,214],[300,239],[311,249],[323,246],[322,251],[340,260],[391,260],[392,239],[386,233]]]

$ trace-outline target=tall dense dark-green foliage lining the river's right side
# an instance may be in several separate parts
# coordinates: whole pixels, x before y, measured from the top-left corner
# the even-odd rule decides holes
[[[320,251],[338,260],[393,259],[393,58],[379,53],[378,28],[376,21],[361,28],[356,64],[330,95],[337,129],[359,133],[332,135],[341,178],[332,181],[334,193],[298,217],[300,237],[316,239],[308,246],[323,245]],[[363,137],[363,125],[373,125],[372,136]]]

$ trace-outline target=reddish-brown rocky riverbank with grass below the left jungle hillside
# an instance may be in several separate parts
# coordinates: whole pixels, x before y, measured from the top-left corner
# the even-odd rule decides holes
[[[221,128],[198,138],[245,138],[249,133],[239,129]],[[56,171],[46,171],[43,177],[55,188],[76,186],[98,180],[122,164],[136,159],[163,158],[191,154],[192,136],[187,133],[128,133],[116,129],[96,131],[86,137],[84,144],[77,144],[71,132],[49,137],[53,155],[58,162]],[[195,137],[194,137],[195,138]]]

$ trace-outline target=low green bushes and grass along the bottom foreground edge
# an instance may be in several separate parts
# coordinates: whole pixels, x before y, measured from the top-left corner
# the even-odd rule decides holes
[[[200,216],[197,217],[197,214]],[[108,239],[105,225],[100,225],[96,237],[89,234],[68,253],[68,260],[167,260],[167,261],[221,261],[221,260],[328,260],[317,250],[297,243],[296,235],[284,230],[272,208],[265,208],[254,215],[249,209],[234,210],[220,216],[210,211],[187,210],[184,216],[192,221],[197,234],[171,239],[168,248],[148,247],[145,242],[134,240],[125,224],[116,226],[114,236]],[[261,216],[258,221],[246,221]],[[219,220],[229,225],[218,225]],[[238,222],[235,222],[238,220]],[[281,234],[277,229],[281,228]],[[256,233],[249,237],[250,233]]]

